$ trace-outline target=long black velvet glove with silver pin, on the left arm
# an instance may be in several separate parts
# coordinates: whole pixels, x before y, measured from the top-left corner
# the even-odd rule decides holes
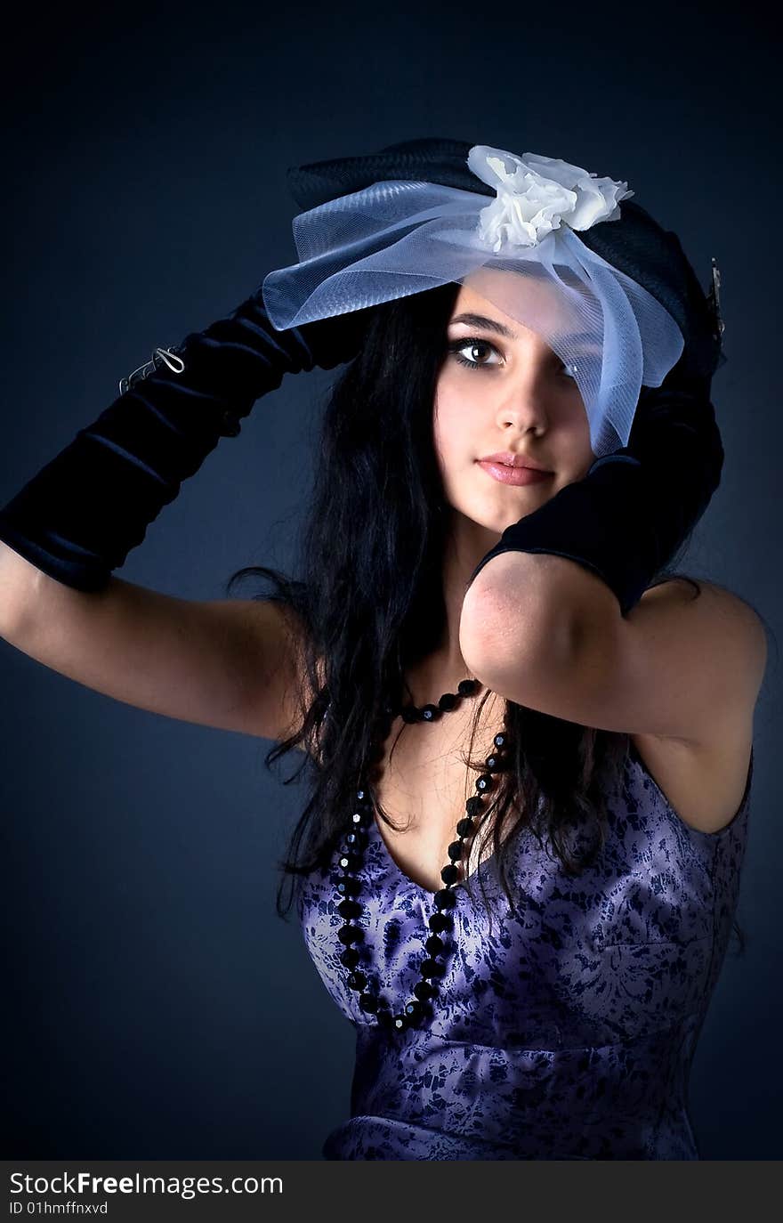
[[[285,373],[356,356],[366,319],[358,311],[275,331],[258,291],[179,347],[158,349],[0,510],[0,539],[66,586],[102,589],[254,401]]]

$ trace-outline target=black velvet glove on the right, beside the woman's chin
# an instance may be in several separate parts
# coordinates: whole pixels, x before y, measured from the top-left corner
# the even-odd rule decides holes
[[[597,574],[628,615],[721,483],[711,380],[692,373],[683,353],[661,386],[642,386],[628,445],[596,459],[584,479],[507,527],[469,586],[504,552],[547,552]]]

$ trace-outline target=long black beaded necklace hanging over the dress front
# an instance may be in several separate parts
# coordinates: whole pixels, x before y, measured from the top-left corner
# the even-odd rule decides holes
[[[371,762],[374,763],[383,758],[383,745],[392,729],[392,722],[398,713],[401,714],[403,720],[406,723],[434,722],[442,713],[454,709],[461,697],[473,696],[480,687],[478,680],[466,679],[461,680],[458,685],[456,692],[444,692],[437,706],[426,704],[420,709],[414,704],[409,704],[396,711],[387,707],[380,728],[382,739],[371,756]],[[371,980],[369,966],[363,965],[360,967],[361,954],[357,947],[352,945],[361,943],[365,937],[362,927],[351,925],[351,918],[361,917],[363,912],[363,906],[358,900],[362,890],[360,872],[365,861],[365,850],[369,840],[367,829],[374,821],[372,789],[367,781],[360,781],[354,811],[351,812],[351,824],[349,832],[345,834],[345,843],[338,859],[343,873],[336,879],[336,892],[340,896],[340,903],[336,907],[340,916],[345,918],[345,925],[338,931],[338,938],[345,948],[340,954],[340,963],[349,970],[347,985],[358,993],[361,1009],[368,1015],[374,1015],[380,1027],[401,1032],[409,1027],[422,1026],[426,1020],[432,1018],[432,999],[437,994],[434,982],[438,977],[444,976],[447,971],[447,956],[449,951],[453,951],[453,943],[449,947],[442,936],[454,933],[454,921],[449,910],[456,904],[454,885],[459,882],[462,873],[459,865],[459,860],[462,856],[462,841],[466,838],[472,838],[476,830],[476,817],[483,807],[482,799],[494,784],[492,774],[502,773],[507,767],[505,750],[509,746],[509,739],[505,726],[500,734],[494,736],[493,744],[497,752],[493,751],[484,761],[486,772],[476,780],[478,794],[470,797],[465,804],[465,816],[456,826],[458,839],[449,845],[449,863],[440,871],[444,887],[439,892],[436,892],[433,896],[436,912],[429,917],[428,926],[431,933],[425,942],[428,956],[422,961],[418,970],[422,980],[414,986],[415,998],[410,998],[404,1003],[399,1011],[394,1011],[389,1003],[380,997],[377,978],[373,977]]]

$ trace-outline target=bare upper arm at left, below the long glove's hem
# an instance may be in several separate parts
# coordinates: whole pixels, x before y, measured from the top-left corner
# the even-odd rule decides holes
[[[285,737],[299,637],[273,600],[196,602],[111,577],[73,589],[0,543],[0,636],[61,675],[166,718]]]

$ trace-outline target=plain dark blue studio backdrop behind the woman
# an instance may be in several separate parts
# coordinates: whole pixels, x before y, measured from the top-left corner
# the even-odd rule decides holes
[[[525,11],[526,10],[526,11]],[[548,10],[548,11],[542,11]],[[289,165],[437,135],[626,180],[707,287],[727,464],[686,566],[781,621],[777,48],[743,5],[219,2],[6,29],[0,504],[158,344],[295,260]],[[219,598],[285,566],[330,374],[288,377],[121,576]],[[247,597],[250,591],[243,592]],[[352,1030],[276,872],[303,789],[268,741],[116,703],[0,643],[6,1157],[318,1158]],[[783,1155],[777,657],[757,714],[739,917],[699,1047],[706,1158]],[[299,755],[297,755],[299,759]]]

